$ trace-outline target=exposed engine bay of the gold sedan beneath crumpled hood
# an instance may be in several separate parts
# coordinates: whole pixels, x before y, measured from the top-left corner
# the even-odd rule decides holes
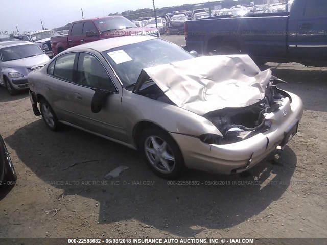
[[[219,129],[223,137],[208,134],[201,140],[211,144],[231,144],[265,132],[271,127],[265,114],[279,110],[285,97],[290,98],[286,92],[270,84],[265,98],[258,103],[243,108],[224,108],[203,115]]]

